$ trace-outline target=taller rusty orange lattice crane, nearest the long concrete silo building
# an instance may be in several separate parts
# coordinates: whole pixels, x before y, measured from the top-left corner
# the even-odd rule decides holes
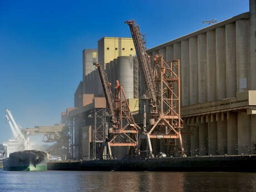
[[[163,55],[156,55],[152,69],[139,26],[134,20],[125,23],[130,27],[139,65],[144,74],[147,87],[144,99],[149,100],[151,114],[150,126],[140,135],[136,151],[140,151],[141,139],[147,139],[150,156],[154,156],[150,139],[164,139],[173,152],[184,155],[180,117],[180,61],[165,62]]]

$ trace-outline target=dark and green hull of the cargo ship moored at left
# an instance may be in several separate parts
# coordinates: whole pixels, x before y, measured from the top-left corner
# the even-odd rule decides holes
[[[9,154],[3,160],[5,171],[46,171],[48,154],[39,150],[23,150]]]

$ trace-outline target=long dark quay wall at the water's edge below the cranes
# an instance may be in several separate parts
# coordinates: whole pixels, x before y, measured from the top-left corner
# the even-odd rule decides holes
[[[256,172],[256,155],[49,162],[48,170]]]

